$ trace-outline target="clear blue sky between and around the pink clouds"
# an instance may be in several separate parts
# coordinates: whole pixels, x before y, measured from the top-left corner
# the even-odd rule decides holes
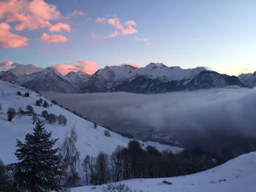
[[[51,35],[47,28],[15,31],[18,22],[8,23],[12,33],[28,38],[28,45],[1,48],[0,63],[12,61],[45,67],[92,61],[101,68],[127,62],[139,66],[161,62],[182,68],[206,66],[235,75],[244,69],[256,71],[256,1],[45,0],[45,3],[56,6],[63,16],[50,20],[51,24],[69,25],[70,32],[55,33],[68,40],[45,42],[41,35]],[[64,18],[75,10],[86,14]],[[0,18],[1,23],[7,23],[6,18]],[[96,22],[97,18],[117,18],[122,26],[133,20],[136,26],[132,28],[138,32],[121,34],[108,22]],[[115,31],[118,31],[115,37],[91,36],[108,36]],[[36,54],[39,50],[47,53]]]

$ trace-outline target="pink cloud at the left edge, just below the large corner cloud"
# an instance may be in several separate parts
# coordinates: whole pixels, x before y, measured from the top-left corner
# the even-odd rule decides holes
[[[1,48],[19,48],[28,46],[28,38],[10,32],[10,25],[0,23],[0,45]]]

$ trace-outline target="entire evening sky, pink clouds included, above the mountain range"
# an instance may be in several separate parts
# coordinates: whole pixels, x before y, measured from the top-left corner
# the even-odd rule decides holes
[[[0,70],[151,62],[256,71],[256,1],[0,0]]]

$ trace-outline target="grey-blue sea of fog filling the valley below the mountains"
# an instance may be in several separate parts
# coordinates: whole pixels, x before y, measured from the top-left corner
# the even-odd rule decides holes
[[[256,89],[217,88],[162,94],[43,93],[114,131],[217,151],[254,149]],[[252,139],[248,142],[248,138]]]

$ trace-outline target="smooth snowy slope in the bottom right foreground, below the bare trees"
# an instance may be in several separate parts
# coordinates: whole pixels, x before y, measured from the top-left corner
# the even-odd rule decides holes
[[[227,163],[209,169],[205,172],[190,174],[187,176],[125,180],[124,183],[137,191],[144,192],[255,192],[256,191],[256,152],[247,153]],[[167,185],[163,181],[172,183]],[[102,191],[102,186],[86,186],[72,188],[72,192]]]

